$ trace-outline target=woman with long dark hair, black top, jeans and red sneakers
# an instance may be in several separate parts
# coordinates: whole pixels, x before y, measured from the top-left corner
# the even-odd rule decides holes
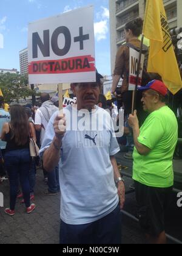
[[[35,204],[30,204],[29,171],[30,157],[30,124],[29,118],[21,105],[10,107],[10,123],[2,128],[1,139],[7,142],[5,151],[5,166],[10,181],[10,208],[5,213],[15,215],[15,204],[18,193],[19,180],[24,196],[26,212],[32,213]]]

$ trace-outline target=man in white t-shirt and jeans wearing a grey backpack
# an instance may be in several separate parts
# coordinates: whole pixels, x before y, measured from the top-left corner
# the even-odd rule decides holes
[[[35,129],[38,132],[41,132],[40,143],[44,140],[45,136],[45,129],[49,123],[50,118],[52,117],[53,113],[58,111],[58,107],[56,107],[52,101],[50,101],[49,93],[42,93],[41,94],[41,102],[42,105],[35,114]],[[59,191],[59,181],[58,181],[58,167],[54,169],[53,172],[47,174],[42,166],[44,172],[44,180],[47,180],[48,183],[48,191],[45,191],[44,194],[46,195],[56,195]]]

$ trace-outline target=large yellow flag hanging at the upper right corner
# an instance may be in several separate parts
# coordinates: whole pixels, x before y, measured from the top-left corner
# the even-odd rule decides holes
[[[160,74],[167,88],[177,93],[182,88],[182,81],[163,0],[147,0],[143,34],[150,39],[147,71]]]

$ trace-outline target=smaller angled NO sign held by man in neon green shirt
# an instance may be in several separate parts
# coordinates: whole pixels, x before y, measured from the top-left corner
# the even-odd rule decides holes
[[[130,48],[129,91],[135,91],[139,55],[140,55],[139,52]],[[139,73],[139,78],[138,78],[138,87],[141,87],[141,77],[142,77],[142,74],[143,74],[143,65],[144,65],[144,54],[141,55],[140,73]]]

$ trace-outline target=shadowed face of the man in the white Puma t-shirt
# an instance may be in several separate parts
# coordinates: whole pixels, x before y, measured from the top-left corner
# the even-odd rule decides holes
[[[73,93],[76,95],[79,109],[91,110],[99,99],[99,83],[79,83],[73,86]]]

